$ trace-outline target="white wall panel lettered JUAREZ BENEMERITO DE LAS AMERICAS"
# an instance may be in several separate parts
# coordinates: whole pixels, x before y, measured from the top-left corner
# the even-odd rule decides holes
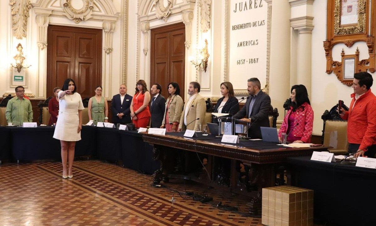
[[[264,0],[225,1],[224,81],[235,95],[246,96],[245,82],[257,77],[268,92],[270,60],[270,7]]]

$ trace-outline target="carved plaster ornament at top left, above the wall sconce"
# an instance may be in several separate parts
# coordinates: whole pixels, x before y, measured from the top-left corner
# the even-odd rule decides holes
[[[12,30],[13,36],[17,39],[26,37],[27,18],[31,9],[30,0],[10,0],[12,6]]]

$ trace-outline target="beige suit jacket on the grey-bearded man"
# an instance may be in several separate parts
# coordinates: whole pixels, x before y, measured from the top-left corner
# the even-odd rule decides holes
[[[187,103],[188,103],[188,100],[184,104],[182,116],[180,117],[179,128],[182,128],[182,130],[197,130],[198,125],[202,125],[205,119],[205,112],[206,112],[205,99],[198,93],[192,100],[190,106],[187,106]],[[186,116],[186,122],[188,126],[184,125],[184,114],[185,114],[185,109],[187,107],[188,107],[188,112]],[[194,121],[197,118],[200,118],[200,119]]]

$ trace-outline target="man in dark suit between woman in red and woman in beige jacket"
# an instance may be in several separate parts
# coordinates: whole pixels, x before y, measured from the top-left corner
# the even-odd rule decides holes
[[[153,95],[150,101],[150,119],[151,128],[160,128],[163,121],[166,99],[161,95],[162,87],[158,83],[150,88],[150,94]]]

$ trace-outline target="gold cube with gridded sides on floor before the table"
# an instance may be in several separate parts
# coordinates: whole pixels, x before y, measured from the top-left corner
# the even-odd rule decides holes
[[[261,223],[313,226],[313,190],[293,186],[263,188]]]

